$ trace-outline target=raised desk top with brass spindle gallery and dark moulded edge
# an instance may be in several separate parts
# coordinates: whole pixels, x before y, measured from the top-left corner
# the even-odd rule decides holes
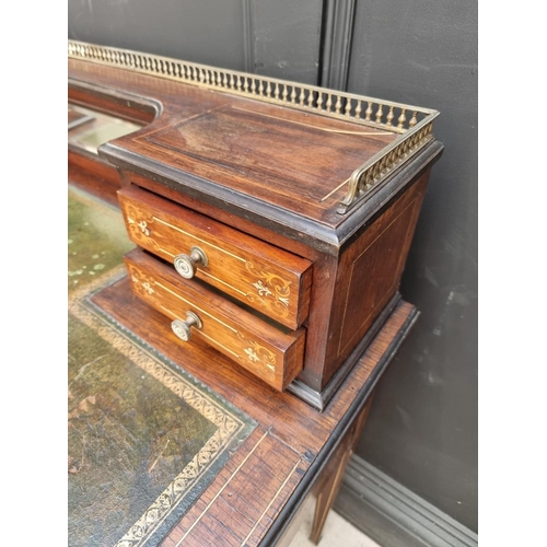
[[[112,164],[315,247],[442,150],[437,110],[74,42],[69,100],[147,124],[101,147]]]

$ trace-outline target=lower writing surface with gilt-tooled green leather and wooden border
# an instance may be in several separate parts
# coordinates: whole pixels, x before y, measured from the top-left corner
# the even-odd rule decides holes
[[[323,412],[206,346],[179,368],[168,324],[130,291],[119,210],[69,196],[71,545],[271,545],[416,310],[399,302]]]

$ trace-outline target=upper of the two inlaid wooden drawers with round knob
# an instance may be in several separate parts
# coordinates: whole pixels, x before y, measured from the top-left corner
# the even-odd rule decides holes
[[[139,246],[268,317],[298,328],[310,306],[312,264],[137,187],[118,191]]]

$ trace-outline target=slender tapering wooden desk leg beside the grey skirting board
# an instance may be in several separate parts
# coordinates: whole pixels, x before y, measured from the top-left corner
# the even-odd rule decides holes
[[[342,439],[342,442],[336,450],[334,457],[323,472],[323,477],[319,481],[321,486],[317,493],[317,502],[315,505],[315,514],[312,524],[312,534],[310,536],[310,539],[315,545],[319,543],[321,534],[323,532],[323,526],[325,525],[327,514],[333,507],[338,490],[340,489],[344,473],[348,465],[349,458],[353,453],[354,445],[363,430],[364,422],[366,420],[366,417],[369,416],[371,403],[372,395],[371,397],[369,397],[369,400],[366,401],[352,427],[350,428],[348,433],[346,433],[346,437]]]

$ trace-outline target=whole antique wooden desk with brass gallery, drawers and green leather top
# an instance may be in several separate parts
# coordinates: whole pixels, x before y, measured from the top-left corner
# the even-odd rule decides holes
[[[289,545],[313,500],[317,542],[418,316],[398,283],[438,113],[81,43],[69,58],[69,526]]]

